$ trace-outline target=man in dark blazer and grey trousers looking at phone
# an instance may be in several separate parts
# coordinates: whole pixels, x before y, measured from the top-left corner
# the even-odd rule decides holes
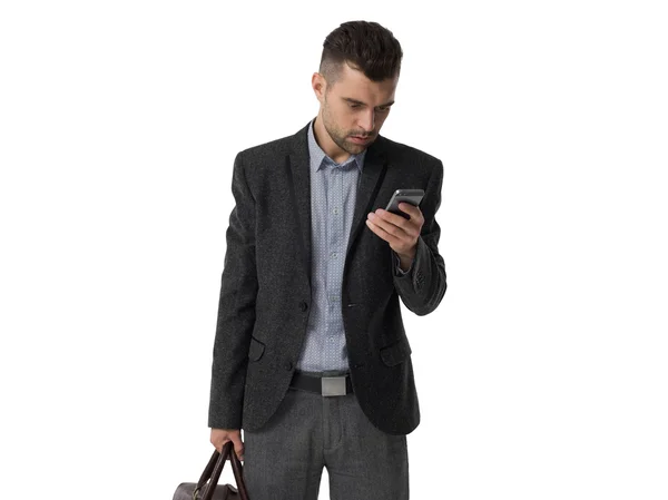
[[[379,135],[402,56],[382,26],[341,24],[317,117],[236,157],[208,423],[252,500],[314,500],[323,467],[332,500],[409,498],[420,410],[399,298],[425,315],[446,285],[443,165]],[[425,192],[409,218],[383,209],[399,188]]]

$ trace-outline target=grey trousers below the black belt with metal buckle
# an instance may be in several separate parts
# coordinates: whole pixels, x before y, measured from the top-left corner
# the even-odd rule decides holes
[[[331,500],[409,499],[406,437],[375,428],[354,394],[291,388],[259,431],[244,431],[244,449],[250,500],[316,500],[323,467]]]

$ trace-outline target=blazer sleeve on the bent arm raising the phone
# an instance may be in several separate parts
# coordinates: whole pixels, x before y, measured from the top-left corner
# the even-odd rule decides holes
[[[428,182],[420,209],[424,224],[418,237],[418,249],[410,272],[403,275],[394,274],[394,287],[404,305],[424,316],[433,312],[448,287],[445,281],[445,263],[439,254],[441,227],[436,223],[436,212],[441,206],[441,189],[443,187],[443,163],[435,160]]]

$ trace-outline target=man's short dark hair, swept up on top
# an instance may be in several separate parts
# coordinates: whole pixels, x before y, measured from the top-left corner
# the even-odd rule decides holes
[[[325,38],[320,72],[332,85],[347,62],[370,80],[382,81],[399,75],[402,57],[392,31],[377,22],[348,21]]]

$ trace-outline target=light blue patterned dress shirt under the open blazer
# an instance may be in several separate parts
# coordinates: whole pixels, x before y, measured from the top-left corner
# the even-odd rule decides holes
[[[308,127],[311,159],[312,301],[304,349],[297,370],[325,372],[348,370],[341,311],[341,285],[345,249],[355,212],[357,183],[366,150],[335,163],[318,146]],[[395,258],[397,275],[403,272]]]

